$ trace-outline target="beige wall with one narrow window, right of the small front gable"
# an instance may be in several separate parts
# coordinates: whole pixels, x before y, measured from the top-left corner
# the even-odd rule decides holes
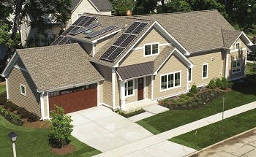
[[[197,55],[189,55],[189,60],[195,66],[192,68],[192,82],[198,86],[207,85],[211,79],[225,76],[225,58],[222,52],[201,53]],[[203,79],[203,64],[208,64],[208,77]],[[223,67],[224,66],[224,67]]]

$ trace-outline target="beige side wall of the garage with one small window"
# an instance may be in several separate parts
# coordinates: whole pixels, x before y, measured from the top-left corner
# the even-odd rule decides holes
[[[20,94],[20,83],[26,85],[26,96]],[[9,99],[41,117],[40,96],[28,72],[13,68],[8,76]]]

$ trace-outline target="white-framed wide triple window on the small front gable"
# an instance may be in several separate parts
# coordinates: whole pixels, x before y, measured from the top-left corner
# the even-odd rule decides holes
[[[161,90],[175,88],[181,85],[181,72],[173,72],[161,76]]]

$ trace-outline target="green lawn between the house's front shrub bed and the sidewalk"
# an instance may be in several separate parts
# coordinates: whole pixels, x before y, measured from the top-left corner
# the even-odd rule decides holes
[[[195,120],[206,118],[210,115],[222,112],[222,96],[225,97],[225,110],[256,101],[255,85],[240,85],[236,91],[223,93],[208,106],[200,107],[194,110],[169,110],[158,115],[143,119],[137,123],[143,126],[153,134],[174,129]]]

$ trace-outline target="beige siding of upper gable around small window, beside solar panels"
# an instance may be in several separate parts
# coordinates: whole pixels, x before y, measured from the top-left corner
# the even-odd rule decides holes
[[[156,42],[159,42],[159,55],[161,55],[162,50],[165,49],[169,42],[167,41],[167,39],[162,37],[162,35],[159,34],[157,30],[152,28],[151,31],[149,31],[148,34],[146,34],[146,36],[141,40],[141,42],[135,47],[135,50],[132,50],[129,53],[127,58],[125,58],[123,63],[121,63],[121,66],[154,61],[154,59],[157,58],[158,55],[144,57],[144,45]]]

